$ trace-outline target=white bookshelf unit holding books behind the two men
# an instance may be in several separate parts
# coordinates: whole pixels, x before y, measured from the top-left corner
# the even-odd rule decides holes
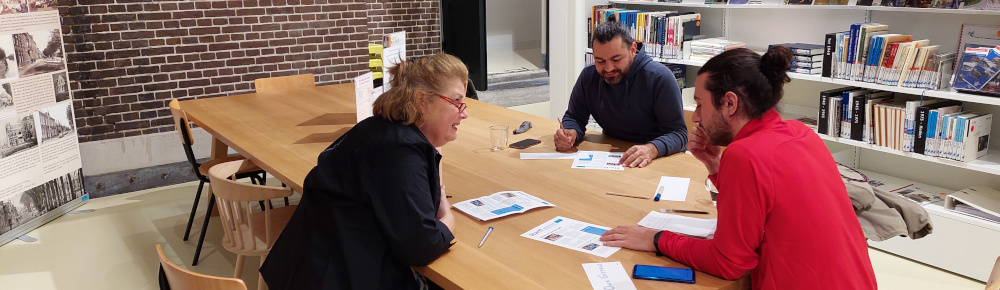
[[[685,0],[688,2],[690,0]],[[702,34],[706,37],[725,37],[743,41],[747,48],[763,51],[773,43],[815,43],[822,44],[824,35],[830,32],[846,31],[850,24],[857,22],[880,22],[888,24],[896,33],[913,34],[914,39],[930,39],[932,45],[941,45],[943,51],[954,51],[958,44],[958,34],[963,23],[998,25],[1000,11],[978,11],[958,9],[919,9],[899,7],[865,7],[836,5],[728,5],[701,3],[661,3],[630,1],[587,1],[581,15],[567,23],[586,23],[590,5],[619,4],[627,9],[645,11],[676,10],[702,14]],[[695,1],[697,2],[697,1]],[[853,2],[853,1],[852,1]],[[553,22],[554,23],[554,22]],[[578,27],[586,35],[586,26]],[[586,53],[586,37],[579,44],[569,44],[569,51],[579,52],[576,61],[582,63]],[[688,69],[689,86],[693,86],[697,68],[702,61],[659,59],[663,63],[692,66]],[[553,67],[552,75],[575,77],[579,70],[558,71]],[[876,90],[893,91],[901,99],[913,100],[923,97],[958,100],[969,110],[993,113],[1000,116],[1000,97],[982,96],[952,92],[949,90],[927,90],[903,88],[824,78],[819,75],[789,73],[793,79],[786,85],[783,113],[812,116],[818,111],[819,91],[856,86]],[[570,84],[571,87],[572,84]],[[555,87],[555,84],[553,85]],[[552,91],[553,114],[561,114],[568,102],[566,96]],[[686,95],[691,88],[685,89]],[[568,89],[566,89],[568,93]],[[687,103],[686,103],[687,105]],[[994,117],[994,128],[1000,128],[1000,118]],[[1000,131],[994,130],[994,134]],[[998,136],[998,135],[994,135]],[[950,159],[930,157],[911,152],[902,152],[864,142],[820,135],[839,162],[852,165],[870,176],[890,179],[900,183],[920,184],[942,193],[951,193],[972,185],[1000,188],[1000,138],[990,142],[989,154],[979,160],[958,162]],[[993,242],[1000,239],[1000,224],[980,220],[944,209],[943,203],[924,206],[934,222],[934,232],[922,239],[910,240],[899,237],[869,245],[887,252],[907,257],[977,280],[985,280],[989,275],[1000,248]]]

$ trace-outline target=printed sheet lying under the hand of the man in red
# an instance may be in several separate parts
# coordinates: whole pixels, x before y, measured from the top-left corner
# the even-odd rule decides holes
[[[608,227],[557,216],[521,234],[521,236],[546,244],[607,258],[621,249],[604,246],[604,243],[600,241],[601,234],[610,229]]]

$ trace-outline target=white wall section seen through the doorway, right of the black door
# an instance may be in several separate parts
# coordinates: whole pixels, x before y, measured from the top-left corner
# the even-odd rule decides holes
[[[487,53],[542,47],[542,0],[487,0]]]

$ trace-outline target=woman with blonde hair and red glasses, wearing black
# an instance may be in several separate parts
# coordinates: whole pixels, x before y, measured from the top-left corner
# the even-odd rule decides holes
[[[435,54],[391,68],[369,117],[319,155],[302,201],[266,261],[271,289],[419,289],[454,243],[437,147],[468,114],[468,70]]]

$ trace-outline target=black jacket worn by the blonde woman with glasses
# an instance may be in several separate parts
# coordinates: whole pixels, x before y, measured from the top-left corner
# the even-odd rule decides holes
[[[415,125],[371,117],[333,142],[260,273],[282,289],[414,289],[454,236],[435,216],[441,155]]]

